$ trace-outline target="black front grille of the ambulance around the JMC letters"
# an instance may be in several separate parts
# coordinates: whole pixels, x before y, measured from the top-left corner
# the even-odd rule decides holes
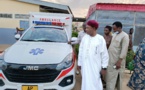
[[[49,83],[53,82],[61,72],[54,69],[55,66],[52,68],[50,65],[39,65],[39,70],[23,70],[26,66],[9,64],[3,73],[11,82]]]

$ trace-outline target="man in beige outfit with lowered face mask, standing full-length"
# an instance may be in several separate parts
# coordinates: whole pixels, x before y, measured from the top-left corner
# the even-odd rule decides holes
[[[108,49],[109,65],[107,68],[107,90],[122,90],[123,73],[125,70],[125,59],[128,51],[129,36],[122,31],[122,23],[113,23],[113,38]]]

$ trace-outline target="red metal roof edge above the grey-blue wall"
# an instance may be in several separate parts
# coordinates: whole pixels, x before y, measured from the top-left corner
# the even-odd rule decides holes
[[[97,3],[90,6],[87,18],[96,10],[145,12],[145,4]]]

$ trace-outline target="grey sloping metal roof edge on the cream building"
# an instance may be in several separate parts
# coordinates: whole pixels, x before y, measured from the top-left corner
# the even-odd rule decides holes
[[[67,5],[51,3],[51,2],[46,2],[46,1],[42,1],[42,0],[18,0],[18,1],[25,2],[25,3],[30,3],[30,4],[47,6],[47,7],[51,7],[51,8],[57,8],[57,9],[61,9],[61,10],[66,10],[70,14],[73,14],[71,9]]]

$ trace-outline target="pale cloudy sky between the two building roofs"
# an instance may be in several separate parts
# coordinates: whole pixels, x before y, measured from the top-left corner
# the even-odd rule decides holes
[[[145,4],[145,0],[43,0],[68,5],[75,17],[86,17],[90,5],[95,3]]]

